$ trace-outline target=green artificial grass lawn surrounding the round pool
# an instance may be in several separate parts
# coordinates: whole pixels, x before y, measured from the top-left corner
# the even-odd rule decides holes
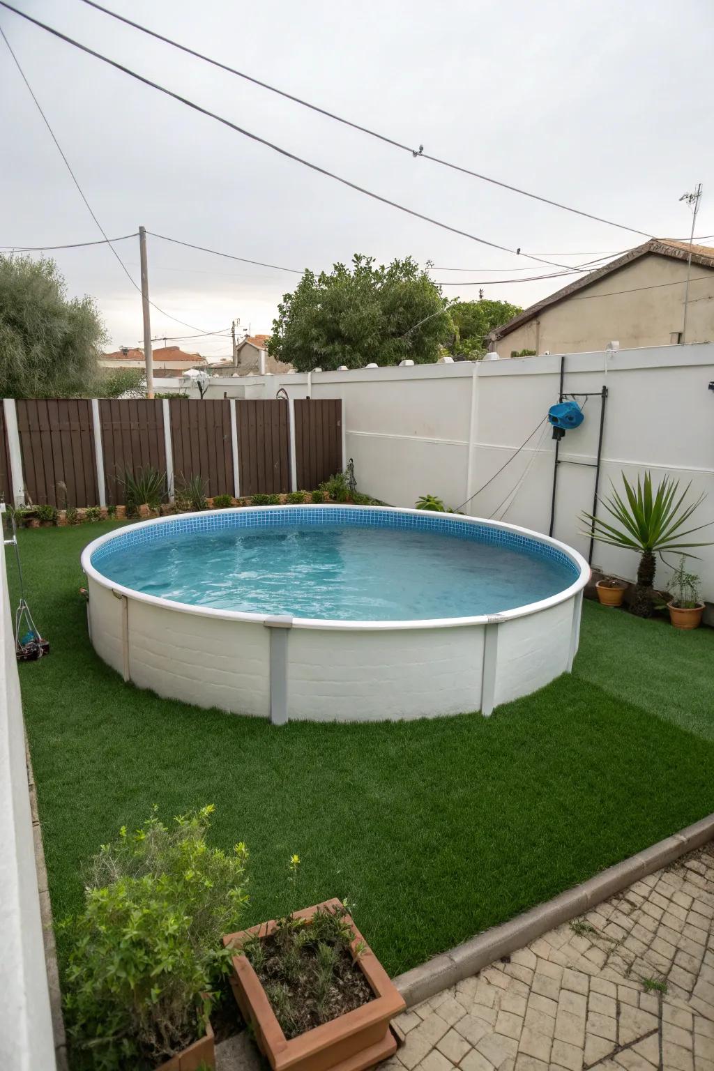
[[[710,630],[586,604],[576,674],[490,719],[275,728],[140,692],[98,660],[79,553],[110,527],[20,533],[51,644],[20,679],[56,917],[121,825],[212,802],[215,841],[250,850],[246,924],[346,896],[395,975],[714,810]],[[700,737],[673,724],[692,710]]]

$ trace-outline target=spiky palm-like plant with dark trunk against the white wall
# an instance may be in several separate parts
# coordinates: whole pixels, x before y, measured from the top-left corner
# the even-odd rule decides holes
[[[621,474],[625,488],[624,498],[618,494],[614,484],[611,484],[612,495],[601,499],[617,524],[595,517],[592,513],[583,513],[582,521],[590,526],[587,534],[592,534],[601,543],[639,553],[632,610],[639,617],[650,617],[654,605],[655,555],[663,558],[663,553],[669,550],[693,557],[688,554],[692,547],[711,546],[711,542],[690,543],[687,538],[714,522],[709,521],[695,528],[684,527],[705,497],[700,495],[696,501],[687,504],[685,499],[690,483],[680,494],[680,481],[670,476],[664,477],[659,485],[653,488],[650,472],[644,473],[643,480],[637,478],[637,486],[629,483],[624,472]]]

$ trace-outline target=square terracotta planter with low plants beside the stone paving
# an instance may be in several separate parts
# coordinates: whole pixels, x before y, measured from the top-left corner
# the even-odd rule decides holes
[[[339,900],[224,944],[236,999],[273,1071],[364,1069],[395,1053],[390,1021],[405,1001]]]

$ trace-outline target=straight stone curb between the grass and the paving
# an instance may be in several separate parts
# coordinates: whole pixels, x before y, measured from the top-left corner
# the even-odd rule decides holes
[[[714,839],[714,814],[672,836],[638,851],[574,889],[561,892],[545,904],[538,904],[510,922],[486,930],[470,940],[442,952],[419,967],[395,978],[394,984],[407,1001],[407,1007],[421,1004],[441,990],[477,974],[504,955],[515,952],[549,930],[584,915],[596,904],[634,881],[667,866],[680,856],[701,847]]]

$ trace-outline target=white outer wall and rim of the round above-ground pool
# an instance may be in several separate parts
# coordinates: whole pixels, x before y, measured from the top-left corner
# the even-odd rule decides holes
[[[212,515],[216,512],[234,511]],[[423,516],[423,511],[392,512]],[[82,554],[91,640],[100,658],[138,688],[278,724],[473,710],[489,714],[495,706],[569,672],[590,569],[557,540],[513,525],[459,521],[495,525],[555,545],[574,562],[577,579],[556,595],[500,615],[375,622],[267,618],[177,603],[113,584],[91,564],[91,556],[105,542],[139,528],[133,525],[95,540]]]

